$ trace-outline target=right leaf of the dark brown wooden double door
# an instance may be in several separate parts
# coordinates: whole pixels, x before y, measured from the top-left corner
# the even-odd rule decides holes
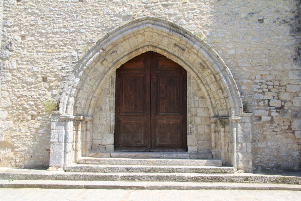
[[[151,150],[187,151],[186,71],[156,52],[151,61]]]

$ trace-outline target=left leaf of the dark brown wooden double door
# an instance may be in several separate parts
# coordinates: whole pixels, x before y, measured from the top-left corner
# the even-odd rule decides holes
[[[150,149],[150,56],[143,53],[116,70],[116,151]]]

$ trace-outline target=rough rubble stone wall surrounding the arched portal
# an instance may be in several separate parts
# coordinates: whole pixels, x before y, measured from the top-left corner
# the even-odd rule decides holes
[[[0,166],[48,166],[43,101],[60,97],[75,64],[107,32],[153,16],[204,39],[230,68],[253,112],[253,168],[300,170],[299,12],[299,0],[4,0]]]

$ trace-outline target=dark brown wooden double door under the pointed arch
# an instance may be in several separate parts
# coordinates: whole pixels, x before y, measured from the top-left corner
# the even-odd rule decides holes
[[[186,70],[157,52],[116,71],[115,151],[187,151]]]

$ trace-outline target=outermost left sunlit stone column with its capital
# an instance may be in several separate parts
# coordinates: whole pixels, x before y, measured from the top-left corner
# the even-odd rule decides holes
[[[70,163],[74,163],[73,144],[73,115],[61,115],[61,120],[65,120],[65,153],[64,153],[64,167]]]

